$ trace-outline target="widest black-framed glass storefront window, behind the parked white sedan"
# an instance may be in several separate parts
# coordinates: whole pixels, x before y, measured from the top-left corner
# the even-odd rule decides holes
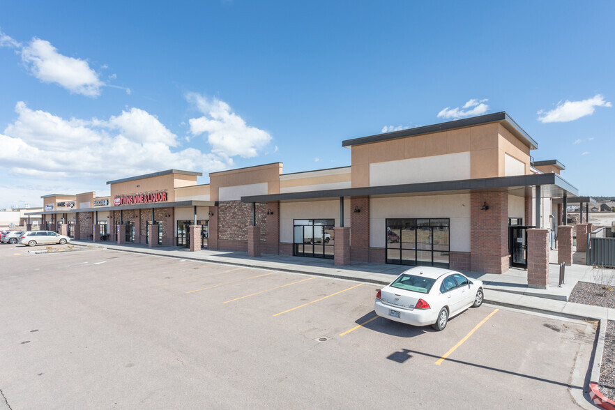
[[[387,219],[385,236],[387,264],[449,267],[449,218]]]

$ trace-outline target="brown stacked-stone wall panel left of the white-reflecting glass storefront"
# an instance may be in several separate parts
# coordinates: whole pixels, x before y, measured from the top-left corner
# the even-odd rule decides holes
[[[256,204],[256,225],[261,227],[261,241],[266,241],[266,204]],[[276,212],[277,214],[277,212]],[[240,201],[221,201],[218,206],[218,247],[222,241],[248,241],[248,227],[252,225],[252,204]]]

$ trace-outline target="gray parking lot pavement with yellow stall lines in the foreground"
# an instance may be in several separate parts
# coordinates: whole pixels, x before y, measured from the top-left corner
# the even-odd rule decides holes
[[[0,247],[13,410],[575,408],[595,339],[592,323],[489,305],[443,332],[373,319],[374,284],[28,250]]]

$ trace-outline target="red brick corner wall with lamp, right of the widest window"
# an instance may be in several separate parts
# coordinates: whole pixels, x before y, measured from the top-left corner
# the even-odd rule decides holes
[[[472,192],[470,206],[470,270],[508,271],[508,192]]]

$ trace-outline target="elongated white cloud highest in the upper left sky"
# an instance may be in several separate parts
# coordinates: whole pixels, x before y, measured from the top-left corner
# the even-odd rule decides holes
[[[42,82],[56,83],[72,93],[96,97],[104,85],[87,61],[63,56],[47,40],[33,38],[21,51],[22,61]]]

